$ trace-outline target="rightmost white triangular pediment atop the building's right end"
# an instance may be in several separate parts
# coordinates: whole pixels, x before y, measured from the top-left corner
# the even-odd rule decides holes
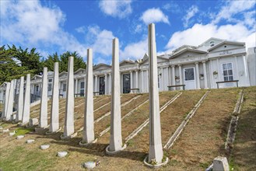
[[[232,49],[237,49],[244,47],[244,42],[232,42],[232,41],[223,41],[219,44],[216,44],[216,46],[209,48],[209,52],[215,52],[215,51],[227,51]]]

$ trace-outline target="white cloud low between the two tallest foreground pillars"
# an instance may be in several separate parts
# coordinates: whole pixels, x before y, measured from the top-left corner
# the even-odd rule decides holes
[[[139,42],[128,44],[120,51],[120,59],[141,59],[148,52],[148,39],[145,36]]]

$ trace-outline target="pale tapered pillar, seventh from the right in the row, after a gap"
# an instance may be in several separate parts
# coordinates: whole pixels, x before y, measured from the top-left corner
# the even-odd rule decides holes
[[[27,74],[22,124],[27,124],[29,121],[30,121],[30,74]]]

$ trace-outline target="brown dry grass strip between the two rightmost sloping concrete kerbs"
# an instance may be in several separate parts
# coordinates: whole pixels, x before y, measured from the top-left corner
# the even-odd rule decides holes
[[[239,89],[212,89],[180,138],[168,150],[170,169],[206,169],[216,156],[224,155],[230,115],[239,92]]]

